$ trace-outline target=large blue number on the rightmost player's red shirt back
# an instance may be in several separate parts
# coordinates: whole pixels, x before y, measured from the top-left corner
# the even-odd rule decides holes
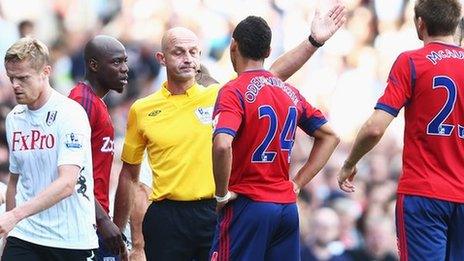
[[[427,134],[438,136],[450,136],[453,132],[454,126],[451,124],[444,124],[444,122],[453,111],[454,104],[456,103],[456,84],[448,76],[436,76],[433,78],[432,88],[445,88],[448,92],[448,97],[440,112],[438,112],[438,114],[427,125]],[[458,135],[459,137],[464,138],[464,127],[461,125],[458,125]]]

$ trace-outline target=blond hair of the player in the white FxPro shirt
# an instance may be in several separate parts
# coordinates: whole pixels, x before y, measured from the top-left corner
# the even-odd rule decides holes
[[[15,42],[5,55],[5,64],[8,62],[28,61],[32,68],[39,71],[49,64],[49,52],[47,46],[41,41],[24,37]]]

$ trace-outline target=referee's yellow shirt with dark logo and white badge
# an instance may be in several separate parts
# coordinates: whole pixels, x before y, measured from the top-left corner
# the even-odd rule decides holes
[[[212,114],[219,85],[195,84],[186,94],[166,89],[130,108],[121,159],[140,164],[147,149],[153,173],[150,200],[213,198]]]

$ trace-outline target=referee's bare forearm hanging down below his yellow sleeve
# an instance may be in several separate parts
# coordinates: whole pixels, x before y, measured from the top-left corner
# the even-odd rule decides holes
[[[131,212],[134,190],[139,181],[140,164],[123,162],[114,201],[114,223],[123,231]]]

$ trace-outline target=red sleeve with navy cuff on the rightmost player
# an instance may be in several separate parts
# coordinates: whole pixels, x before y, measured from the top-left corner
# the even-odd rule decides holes
[[[392,66],[385,92],[377,101],[375,109],[383,110],[396,117],[411,98],[414,87],[415,69],[412,60],[401,54]]]

